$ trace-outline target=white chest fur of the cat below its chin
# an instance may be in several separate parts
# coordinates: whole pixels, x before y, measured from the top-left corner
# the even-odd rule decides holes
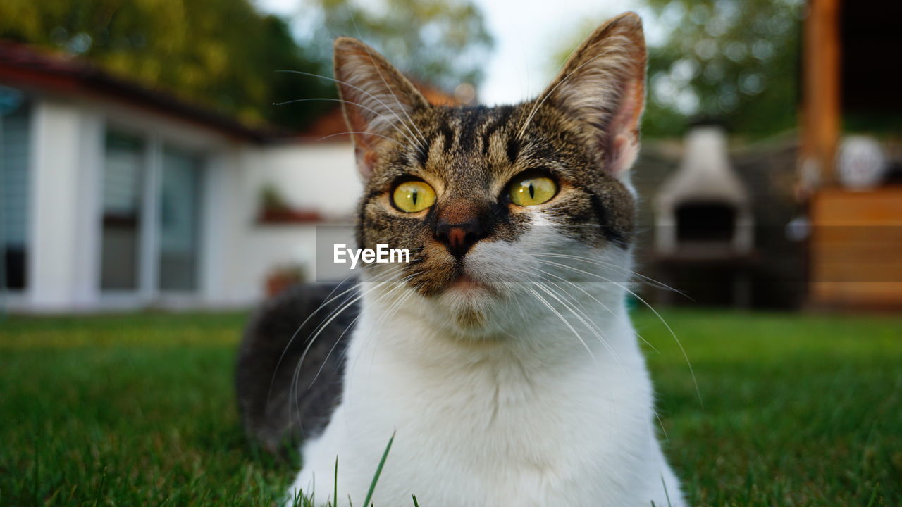
[[[377,507],[412,505],[411,494],[434,507],[683,504],[621,303],[584,314],[595,329],[574,325],[593,336],[583,343],[546,319],[520,336],[465,344],[416,305],[388,319],[377,302],[364,308],[343,401],[304,446],[292,490],[327,502],[337,456],[339,500],[361,504],[394,434]]]

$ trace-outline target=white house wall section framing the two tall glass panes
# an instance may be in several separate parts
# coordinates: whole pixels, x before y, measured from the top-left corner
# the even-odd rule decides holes
[[[9,309],[58,312],[130,309],[148,305],[209,306],[222,298],[227,252],[242,244],[229,224],[238,210],[223,206],[242,192],[243,143],[152,112],[103,100],[24,90],[32,102],[28,167],[28,282],[5,295]],[[205,160],[199,287],[192,294],[99,289],[101,190],[106,128],[141,136],[152,146],[171,143]],[[148,261],[153,263],[155,259]],[[150,275],[153,272],[151,270]],[[224,303],[225,304],[225,303]]]

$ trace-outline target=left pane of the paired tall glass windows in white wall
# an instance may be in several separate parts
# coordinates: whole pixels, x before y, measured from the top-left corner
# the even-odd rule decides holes
[[[138,288],[144,160],[141,139],[107,132],[100,269],[102,290]]]

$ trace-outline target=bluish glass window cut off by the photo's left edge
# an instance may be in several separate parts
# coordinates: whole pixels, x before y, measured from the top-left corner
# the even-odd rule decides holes
[[[0,88],[0,288],[12,290],[27,284],[30,118],[21,93]]]

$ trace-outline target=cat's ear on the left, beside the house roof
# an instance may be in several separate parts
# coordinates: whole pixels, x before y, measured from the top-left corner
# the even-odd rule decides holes
[[[376,164],[376,146],[398,128],[410,137],[410,115],[419,107],[428,107],[428,101],[398,69],[363,42],[339,37],[334,50],[338,95],[354,140],[357,168],[369,179]]]

